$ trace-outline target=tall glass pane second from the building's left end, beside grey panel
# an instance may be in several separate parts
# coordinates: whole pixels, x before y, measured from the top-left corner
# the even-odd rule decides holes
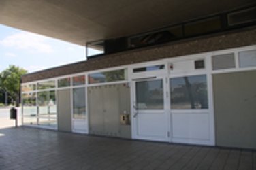
[[[55,91],[44,91],[37,93],[39,105],[39,124],[55,126],[57,124],[57,105]],[[46,121],[47,120],[47,121]]]

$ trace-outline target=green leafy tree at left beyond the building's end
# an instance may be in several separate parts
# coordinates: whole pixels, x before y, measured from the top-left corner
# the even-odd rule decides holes
[[[16,101],[16,105],[20,103],[20,78],[26,74],[27,70],[14,65],[10,65],[7,69],[0,74],[0,88],[8,94],[12,103]]]

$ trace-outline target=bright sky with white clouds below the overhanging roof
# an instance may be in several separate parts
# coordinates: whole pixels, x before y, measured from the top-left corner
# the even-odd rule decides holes
[[[0,72],[9,65],[32,73],[84,60],[85,46],[0,24]]]

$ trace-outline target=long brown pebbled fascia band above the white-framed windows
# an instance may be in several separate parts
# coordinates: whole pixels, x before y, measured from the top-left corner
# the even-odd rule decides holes
[[[188,54],[210,52],[214,50],[237,48],[253,44],[256,44],[256,27],[90,58],[87,61],[81,61],[79,63],[72,63],[70,65],[64,65],[24,75],[22,76],[22,83],[54,78],[72,73],[92,71],[120,65],[129,65],[162,58],[185,56]]]

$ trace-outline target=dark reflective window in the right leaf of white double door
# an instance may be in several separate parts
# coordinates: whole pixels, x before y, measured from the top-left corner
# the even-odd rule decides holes
[[[171,109],[208,109],[206,75],[171,78]]]

